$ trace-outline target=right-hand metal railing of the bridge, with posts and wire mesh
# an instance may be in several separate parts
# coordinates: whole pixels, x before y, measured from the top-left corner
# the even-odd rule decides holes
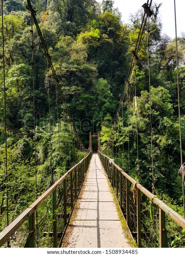
[[[137,247],[171,247],[185,229],[185,219],[98,151]],[[184,238],[183,238],[184,239]],[[178,247],[185,247],[183,240]]]

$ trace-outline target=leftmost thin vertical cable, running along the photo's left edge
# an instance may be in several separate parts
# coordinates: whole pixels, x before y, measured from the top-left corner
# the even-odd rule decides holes
[[[8,162],[7,162],[7,103],[6,103],[6,83],[5,83],[5,37],[4,37],[4,17],[3,17],[3,0],[1,0],[1,24],[2,24],[2,66],[3,66],[3,84],[4,84],[4,119],[5,119],[5,180],[6,180],[6,211],[7,226],[9,225],[9,194],[8,194]],[[9,247],[9,239],[7,247]]]

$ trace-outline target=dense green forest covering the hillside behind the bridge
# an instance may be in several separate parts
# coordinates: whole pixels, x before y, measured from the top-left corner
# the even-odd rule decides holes
[[[120,104],[132,51],[138,37],[143,9],[132,14],[131,24],[122,21],[112,0],[34,0],[37,21],[67,105],[88,148],[90,130],[101,133],[102,149],[112,130],[114,115]],[[86,155],[72,133],[62,102],[56,106],[55,82],[47,72],[47,59],[35,25],[33,25],[34,72],[32,71],[31,15],[25,0],[4,0],[5,77],[7,100],[7,161],[9,180],[9,214],[14,220],[35,200],[35,151],[32,73],[35,82],[36,161],[39,191],[42,194],[70,166]],[[153,114],[153,161],[155,194],[183,216],[183,193],[180,169],[180,142],[177,102],[176,45],[162,34],[158,17],[160,5],[153,4],[150,21],[150,81]],[[124,17],[123,17],[124,18]],[[1,26],[1,22],[0,22]],[[134,71],[130,79],[129,113],[123,103],[123,119],[110,153],[111,158],[151,191],[151,148],[148,122],[149,85],[147,28],[136,62],[138,107],[139,170],[136,152],[136,114],[133,109]],[[0,32],[0,231],[6,226],[5,194],[5,124],[2,70],[2,33]],[[185,159],[185,35],[178,38],[180,111],[183,159]],[[49,77],[49,78],[48,78]],[[50,98],[47,81],[50,83]],[[59,96],[58,96],[59,97]],[[49,107],[52,120],[51,144]],[[57,114],[57,108],[59,118]],[[60,124],[59,124],[60,119]],[[129,120],[129,121],[128,121]],[[124,123],[124,131],[122,125]],[[60,139],[58,140],[58,127]],[[94,130],[92,129],[94,126]],[[118,134],[119,130],[119,134]],[[128,146],[128,131],[130,141]],[[124,142],[124,164],[123,164]],[[128,151],[130,150],[130,161]],[[51,152],[52,151],[52,152]],[[112,152],[114,154],[112,155]],[[118,152],[119,151],[119,152]],[[60,155],[60,157],[59,157]],[[59,159],[60,162],[59,163]],[[130,166],[130,167],[129,167]]]

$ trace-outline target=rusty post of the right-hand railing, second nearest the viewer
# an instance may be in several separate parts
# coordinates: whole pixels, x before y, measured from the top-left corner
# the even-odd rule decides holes
[[[137,187],[137,247],[141,248],[141,191]]]

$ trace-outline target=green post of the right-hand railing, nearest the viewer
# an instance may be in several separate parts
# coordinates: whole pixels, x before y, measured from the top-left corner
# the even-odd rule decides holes
[[[166,213],[159,208],[160,248],[167,248]]]

